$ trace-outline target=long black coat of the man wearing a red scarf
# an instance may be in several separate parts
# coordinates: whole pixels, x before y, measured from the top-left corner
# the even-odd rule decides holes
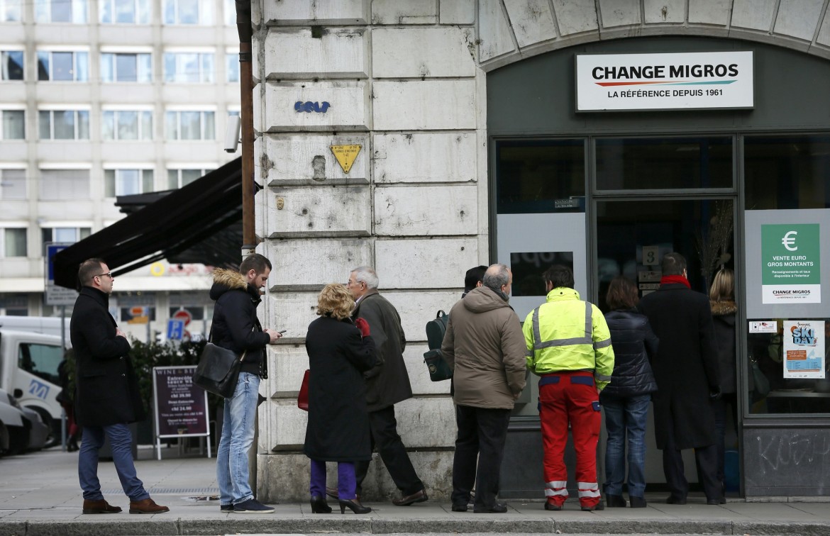
[[[709,392],[720,377],[709,299],[682,283],[666,283],[643,296],[637,309],[660,339],[652,360],[658,387],[652,395],[657,448],[666,446],[669,426],[679,449],[714,445]]]

